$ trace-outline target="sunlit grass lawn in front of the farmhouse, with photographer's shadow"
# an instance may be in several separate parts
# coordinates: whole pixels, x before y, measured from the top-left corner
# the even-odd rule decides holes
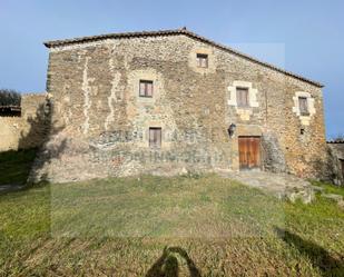
[[[343,276],[344,212],[215,175],[0,196],[0,276]],[[191,274],[190,274],[191,273]]]

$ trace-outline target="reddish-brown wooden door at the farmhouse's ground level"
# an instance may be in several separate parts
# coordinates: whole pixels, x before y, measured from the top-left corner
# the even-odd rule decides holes
[[[240,169],[261,167],[261,138],[239,137],[239,166]]]

